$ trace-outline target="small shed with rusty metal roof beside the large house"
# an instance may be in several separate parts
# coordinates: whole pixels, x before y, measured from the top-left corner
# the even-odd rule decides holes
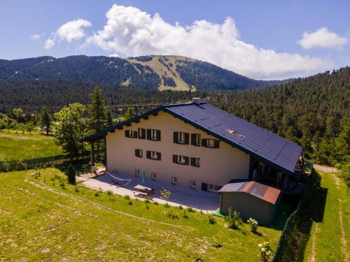
[[[220,190],[220,210],[237,210],[244,220],[253,217],[259,224],[269,226],[276,214],[281,190],[255,181],[225,184]]]

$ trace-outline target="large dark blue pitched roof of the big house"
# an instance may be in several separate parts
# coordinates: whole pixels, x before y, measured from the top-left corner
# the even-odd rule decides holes
[[[138,115],[126,122],[121,122],[87,136],[81,141],[94,140],[105,136],[107,132],[122,129],[123,126],[138,122],[139,119],[148,117],[148,115],[155,114],[160,110],[169,112],[169,114],[182,119],[184,122],[193,124],[193,126],[237,147],[239,150],[269,163],[274,168],[287,173],[294,173],[295,171],[295,166],[302,152],[300,145],[231,115],[209,103],[160,105],[143,115]]]

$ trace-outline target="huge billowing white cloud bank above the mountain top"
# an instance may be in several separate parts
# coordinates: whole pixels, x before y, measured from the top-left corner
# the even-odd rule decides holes
[[[126,56],[178,54],[260,79],[289,78],[332,65],[326,59],[278,53],[245,43],[230,17],[223,24],[199,20],[183,27],[165,22],[158,13],[152,17],[138,8],[116,4],[106,17],[104,28],[88,37],[85,45]]]

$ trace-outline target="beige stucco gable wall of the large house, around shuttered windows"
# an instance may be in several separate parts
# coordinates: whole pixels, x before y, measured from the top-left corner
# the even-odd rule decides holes
[[[125,130],[137,131],[138,128],[159,129],[161,141],[139,138],[126,138]],[[191,124],[186,124],[167,112],[159,112],[157,116],[141,119],[139,123],[124,126],[122,130],[106,136],[107,168],[109,172],[125,175],[135,174],[135,169],[146,170],[147,179],[151,173],[157,174],[157,180],[172,182],[177,177],[177,184],[190,187],[190,180],[195,180],[197,190],[201,190],[202,182],[223,186],[232,178],[247,179],[249,155],[221,141],[220,147],[207,148],[194,145],[179,145],[174,143],[174,132],[200,133],[201,138],[212,138]],[[143,157],[135,157],[135,149],[143,150]],[[161,152],[162,160],[155,161],[146,158],[146,151]],[[173,154],[200,158],[200,168],[183,166],[173,163]]]

